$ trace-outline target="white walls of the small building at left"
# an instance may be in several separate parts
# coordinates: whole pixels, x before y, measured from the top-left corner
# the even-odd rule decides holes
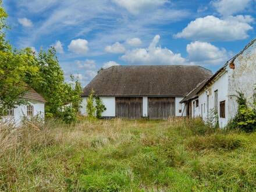
[[[42,102],[29,102],[29,104],[34,106],[34,116],[39,116],[40,118],[44,119],[45,104]],[[20,126],[24,116],[27,116],[27,105],[20,105],[14,109],[13,116],[5,116],[2,121]]]

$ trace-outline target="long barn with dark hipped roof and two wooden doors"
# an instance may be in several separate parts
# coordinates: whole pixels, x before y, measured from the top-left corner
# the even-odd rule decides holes
[[[84,87],[81,114],[86,115],[87,98],[94,90],[106,106],[105,118],[186,116],[180,101],[211,76],[210,70],[192,65],[112,66]]]

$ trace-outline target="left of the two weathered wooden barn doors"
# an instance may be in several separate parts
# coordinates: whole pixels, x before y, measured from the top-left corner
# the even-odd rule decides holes
[[[116,97],[116,117],[138,119],[143,116],[142,97]]]

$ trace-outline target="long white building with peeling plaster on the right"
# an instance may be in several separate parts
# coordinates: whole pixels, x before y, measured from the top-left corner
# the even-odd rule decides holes
[[[219,126],[225,127],[237,112],[237,91],[249,102],[256,86],[256,40],[221,67],[210,79],[202,81],[181,102],[190,116],[207,120],[211,112],[218,115]]]

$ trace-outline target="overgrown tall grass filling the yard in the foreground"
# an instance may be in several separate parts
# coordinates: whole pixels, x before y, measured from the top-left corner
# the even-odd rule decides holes
[[[178,118],[1,125],[0,191],[253,191],[255,136]]]

